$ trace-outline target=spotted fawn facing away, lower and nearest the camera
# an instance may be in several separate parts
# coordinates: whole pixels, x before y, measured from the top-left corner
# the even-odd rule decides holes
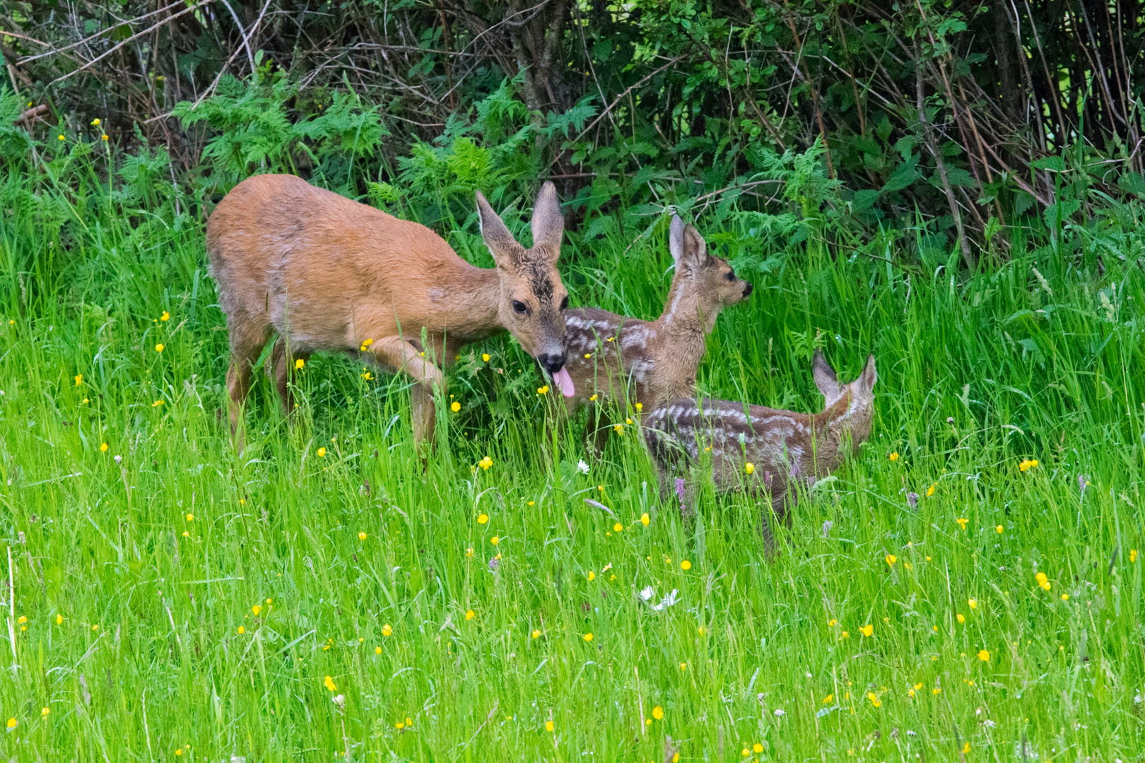
[[[677,399],[645,419],[645,443],[656,462],[661,496],[676,478],[680,508],[692,511],[688,491],[694,469],[710,459],[717,492],[747,490],[766,498],[775,516],[788,523],[787,504],[797,486],[811,487],[830,475],[847,454],[870,437],[875,408],[875,356],[850,384],[815,351],[815,387],[826,398],[815,414],[776,411],[731,400]],[[774,541],[766,516],[760,526],[771,553]]]

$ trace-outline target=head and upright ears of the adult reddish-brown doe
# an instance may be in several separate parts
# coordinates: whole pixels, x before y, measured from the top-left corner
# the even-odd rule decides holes
[[[564,367],[564,310],[569,296],[556,270],[564,217],[555,186],[545,183],[537,194],[532,208],[532,248],[516,243],[481,191],[477,191],[477,218],[481,237],[500,276],[497,317],[526,352],[550,374],[556,374]]]

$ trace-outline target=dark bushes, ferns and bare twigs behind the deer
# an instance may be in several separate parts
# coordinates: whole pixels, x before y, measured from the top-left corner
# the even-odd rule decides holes
[[[976,267],[1145,191],[1142,5],[3,0],[0,53],[17,125],[204,201],[285,169],[435,224],[550,177],[590,238],[676,205]]]

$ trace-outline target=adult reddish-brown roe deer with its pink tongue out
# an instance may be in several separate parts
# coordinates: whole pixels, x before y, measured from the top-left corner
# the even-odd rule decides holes
[[[228,408],[236,448],[253,364],[271,332],[273,369],[287,415],[298,359],[338,350],[414,380],[414,444],[433,438],[439,365],[460,345],[503,328],[572,394],[564,371],[568,293],[556,270],[564,220],[545,183],[532,247],[513,238],[480,191],[481,235],[497,267],[475,268],[435,232],[315,188],[293,175],[256,175],[234,188],[207,222],[207,253],[227,315]],[[423,344],[423,331],[426,343]]]

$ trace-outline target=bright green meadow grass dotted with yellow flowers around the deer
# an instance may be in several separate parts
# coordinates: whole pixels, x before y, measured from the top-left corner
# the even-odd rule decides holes
[[[671,737],[681,761],[1142,760],[1132,261],[1018,246],[953,278],[800,248],[748,273],[705,392],[814,410],[819,329],[842,377],[879,368],[871,440],[768,564],[749,501],[661,506],[633,431],[579,474],[508,340],[451,376],[425,472],[404,381],[331,356],[298,426],[256,384],[236,458],[187,200],[133,212],[52,167],[74,177],[0,189],[6,757],[660,763]],[[574,304],[658,313],[663,241],[630,244],[569,246]],[[653,611],[646,586],[679,601]]]

